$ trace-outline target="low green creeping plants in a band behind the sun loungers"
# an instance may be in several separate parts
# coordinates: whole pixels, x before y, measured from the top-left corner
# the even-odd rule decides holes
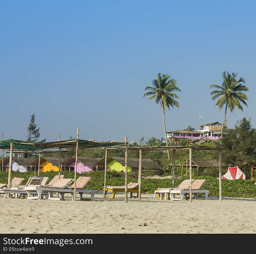
[[[40,172],[42,176],[48,176],[49,181],[57,175],[58,172],[47,171]],[[63,174],[63,172],[61,172]],[[85,172],[82,174],[77,173],[77,178],[81,175],[92,176],[92,179],[88,183],[88,187],[93,190],[103,191],[104,188],[104,171],[95,172]],[[149,173],[149,175],[151,175]],[[26,183],[30,176],[34,176],[34,172],[12,172],[12,177],[22,177],[24,178],[23,183]],[[113,176],[113,172],[107,171],[106,174],[106,185],[124,185],[125,176],[124,174],[119,177]],[[65,172],[66,178],[74,179],[73,171]],[[188,179],[188,177],[183,177],[182,179],[175,179],[175,186],[179,185],[183,180]],[[193,179],[206,179],[206,183],[203,185],[205,190],[209,190],[209,196],[217,197],[219,195],[219,180],[212,176],[194,176]],[[138,181],[138,173],[128,174],[128,183]],[[8,182],[8,172],[0,172],[0,183]],[[255,180],[251,179],[238,179],[238,180],[223,180],[222,181],[222,196],[223,197],[242,197],[242,198],[256,198],[256,185]],[[144,193],[154,193],[157,188],[170,188],[172,186],[172,179],[142,179],[141,188]]]

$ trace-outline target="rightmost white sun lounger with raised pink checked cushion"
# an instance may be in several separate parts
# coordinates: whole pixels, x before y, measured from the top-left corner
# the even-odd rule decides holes
[[[206,179],[197,179],[192,183],[192,193],[195,194],[195,199],[198,199],[198,193],[205,193],[205,199],[208,199],[209,190],[202,188],[202,185],[205,183]],[[187,200],[187,194],[190,193],[190,189],[174,188],[170,190],[171,200],[184,200],[184,196]],[[175,194],[181,195],[181,198],[176,198]]]

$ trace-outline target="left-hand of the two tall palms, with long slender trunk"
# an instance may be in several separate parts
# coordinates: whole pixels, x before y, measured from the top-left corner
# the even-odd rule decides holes
[[[166,140],[166,146],[168,146],[167,141],[167,134],[166,134],[166,127],[165,127],[165,107],[167,107],[170,110],[170,107],[179,107],[179,103],[174,100],[179,98],[176,93],[173,93],[174,91],[180,92],[180,89],[176,85],[176,80],[171,79],[171,77],[168,74],[161,73],[158,74],[157,78],[152,80],[152,86],[146,87],[145,90],[149,90],[149,92],[146,92],[143,94],[143,97],[150,96],[149,100],[155,100],[157,104],[160,103],[162,108],[162,114],[163,114],[163,128],[164,128],[164,134],[165,134],[165,140]],[[167,150],[168,154],[168,160],[170,161],[170,154],[169,150]]]

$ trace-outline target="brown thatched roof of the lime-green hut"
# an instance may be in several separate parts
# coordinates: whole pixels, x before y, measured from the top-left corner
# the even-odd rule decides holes
[[[125,157],[114,157],[109,156],[107,158],[107,164],[111,161],[117,161],[122,166],[125,166]],[[139,167],[139,158],[127,158],[127,165],[128,167]],[[95,166],[104,167],[105,166],[105,158],[103,158],[101,161],[99,161]],[[162,169],[160,165],[152,161],[151,159],[142,159],[141,167],[143,168],[160,168]]]

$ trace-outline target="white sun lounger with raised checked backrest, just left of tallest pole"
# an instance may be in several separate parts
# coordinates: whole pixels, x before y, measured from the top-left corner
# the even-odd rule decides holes
[[[68,186],[74,179],[71,178],[63,178],[59,179],[56,183],[52,185],[37,185],[37,186],[27,186],[24,189],[28,194],[28,199],[41,199],[42,192],[48,192],[48,199],[57,199],[57,200],[65,200],[64,194],[70,193],[72,195],[72,200],[74,199],[74,190],[70,189]],[[37,197],[32,197],[31,193],[36,191],[38,193]],[[58,192],[60,197],[53,197],[53,193]]]

